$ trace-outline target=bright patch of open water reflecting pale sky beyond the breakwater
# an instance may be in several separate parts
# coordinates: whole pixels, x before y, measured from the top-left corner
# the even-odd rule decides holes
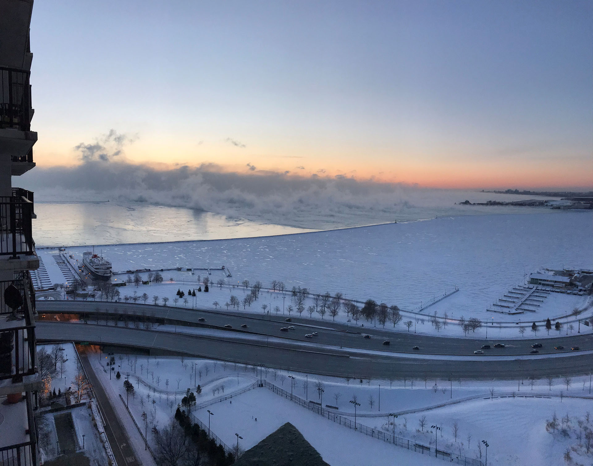
[[[35,213],[33,237],[39,247],[228,239],[313,231],[181,207],[114,202],[36,202]]]

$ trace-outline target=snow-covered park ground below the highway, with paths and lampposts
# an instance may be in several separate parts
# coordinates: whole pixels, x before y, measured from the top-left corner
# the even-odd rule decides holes
[[[259,379],[259,372],[251,366],[240,364],[216,363],[209,360],[180,357],[146,357],[116,355],[120,364],[122,378],[109,379],[104,369],[104,355],[96,353],[91,357],[95,372],[109,389],[108,392],[121,394],[126,398],[123,380],[129,373],[135,388],[135,395],[130,396],[129,407],[136,422],[143,425],[142,412],[148,414],[148,428],[154,424],[164,426],[180,402],[185,389],[195,390],[194,370],[197,370],[196,383],[202,386],[202,394],[197,396],[197,404],[216,401],[202,409],[194,408],[194,414],[208,425],[206,409],[214,413],[211,416],[211,429],[227,445],[233,446],[237,438],[243,437],[241,447],[248,449],[272,433],[286,421],[294,424],[305,438],[320,452],[324,460],[331,465],[383,465],[391,464],[441,464],[441,460],[423,456],[406,449],[398,448],[381,440],[361,435],[345,429],[324,417],[318,416],[299,405],[285,400],[266,388],[253,388],[229,400],[218,401],[237,391],[253,385]],[[134,375],[134,363],[136,375]],[[208,375],[206,375],[208,368]],[[201,381],[200,381],[201,372]],[[579,462],[589,464],[593,452],[586,455],[578,447],[577,434],[583,431],[579,427],[579,417],[584,422],[586,411],[591,409],[591,399],[567,398],[588,397],[589,378],[571,378],[568,389],[564,379],[535,380],[517,382],[466,382],[427,379],[394,381],[346,381],[345,379],[308,376],[301,373],[263,370],[261,377],[287,391],[291,390],[288,375],[294,376],[293,392],[301,398],[321,401],[324,405],[334,405],[345,416],[352,416],[349,400],[356,395],[361,406],[358,408],[357,421],[368,427],[393,432],[393,417],[389,413],[400,413],[396,419],[396,435],[415,440],[423,445],[434,445],[432,425],[441,427],[437,436],[439,449],[458,452],[470,458],[485,454],[480,440],[487,440],[489,464],[493,465],[558,465],[563,464],[566,448],[575,446],[573,457],[582,455]],[[137,376],[137,377],[136,377]],[[153,380],[154,377],[154,380]],[[160,380],[157,382],[157,378]],[[169,385],[165,385],[165,381]],[[323,400],[316,389],[317,382],[323,384]],[[224,392],[222,392],[224,386]],[[490,399],[490,389],[493,399]],[[516,397],[511,393],[515,392]],[[562,393],[562,398],[559,395]],[[540,394],[549,398],[519,398],[521,395]],[[337,395],[337,400],[336,400]],[[500,396],[506,398],[499,398]],[[372,402],[371,402],[372,397]],[[380,398],[380,407],[379,407]],[[458,404],[448,403],[469,398]],[[485,399],[484,399],[485,398]],[[114,405],[121,404],[115,395]],[[443,405],[434,408],[435,405]],[[372,406],[371,406],[372,405]],[[402,411],[415,410],[414,413]],[[348,414],[350,413],[350,414]],[[560,419],[569,416],[568,436],[557,431],[546,432],[546,421],[556,413]],[[123,415],[127,413],[123,413]],[[420,419],[426,416],[422,432]],[[256,421],[257,418],[257,421]],[[453,424],[457,421],[457,440],[454,438]],[[564,426],[560,426],[561,428]],[[593,427],[593,421],[592,421]],[[570,429],[575,429],[570,430]],[[468,442],[468,435],[471,436]],[[580,441],[582,443],[582,439]],[[532,461],[537,459],[537,461]],[[484,461],[484,457],[482,457]]]

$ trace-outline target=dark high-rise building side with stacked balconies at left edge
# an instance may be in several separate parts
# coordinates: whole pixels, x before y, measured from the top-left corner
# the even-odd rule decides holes
[[[31,233],[33,193],[12,177],[35,166],[29,27],[33,0],[0,0],[0,464],[39,465],[33,411],[42,381],[35,338],[39,267]]]

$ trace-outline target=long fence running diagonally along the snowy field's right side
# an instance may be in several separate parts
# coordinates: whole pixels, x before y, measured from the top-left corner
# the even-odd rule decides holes
[[[292,395],[286,390],[277,387],[273,383],[264,381],[263,385],[272,390],[275,394],[280,395],[281,397],[284,397],[287,400],[291,400],[301,405],[302,407],[307,408],[309,411],[313,411],[314,413],[317,413],[320,416],[327,417],[327,419],[340,424],[340,426],[345,426],[348,429],[358,430],[358,432],[363,433],[364,435],[368,435],[372,438],[383,440],[387,443],[393,443],[393,445],[400,446],[401,448],[407,448],[409,450],[413,450],[423,455],[433,455],[437,458],[446,459],[447,461],[452,462],[453,464],[463,464],[465,466],[483,466],[482,461],[480,461],[479,459],[468,458],[464,455],[457,455],[448,451],[435,449],[432,446],[417,443],[415,442],[415,440],[403,439],[401,437],[397,437],[390,433],[384,432],[380,429],[373,429],[358,422],[354,423],[347,417],[343,417],[340,414],[336,414],[331,412],[330,410],[326,410],[326,408],[323,408],[322,406],[316,403],[310,403],[308,401],[303,400],[302,398],[297,397],[296,395]],[[385,415],[385,417],[387,417],[387,415]]]

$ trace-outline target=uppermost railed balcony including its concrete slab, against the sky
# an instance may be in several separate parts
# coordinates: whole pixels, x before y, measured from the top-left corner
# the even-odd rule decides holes
[[[31,131],[29,75],[23,69],[0,67],[0,151],[21,163],[21,157],[29,157],[28,164],[33,163],[31,150],[37,141],[37,133]]]

